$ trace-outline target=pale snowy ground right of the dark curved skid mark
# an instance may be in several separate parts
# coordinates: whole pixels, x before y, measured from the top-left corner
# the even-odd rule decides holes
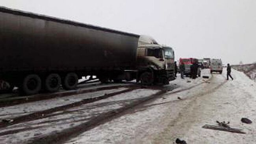
[[[255,144],[256,83],[236,70],[232,72],[234,81],[226,81],[225,74],[213,74],[210,83],[165,95],[67,144],[173,144],[176,138],[188,144]],[[185,85],[185,81],[172,83]],[[191,80],[189,85],[199,81],[202,79]],[[243,124],[242,117],[253,123]],[[216,121],[230,121],[231,127],[241,128],[246,134],[202,128],[204,124],[216,125]]]

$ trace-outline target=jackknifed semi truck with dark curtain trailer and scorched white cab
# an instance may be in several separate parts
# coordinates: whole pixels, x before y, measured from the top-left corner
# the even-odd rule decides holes
[[[168,84],[174,51],[145,36],[0,7],[1,81],[31,95],[75,89],[91,75]]]

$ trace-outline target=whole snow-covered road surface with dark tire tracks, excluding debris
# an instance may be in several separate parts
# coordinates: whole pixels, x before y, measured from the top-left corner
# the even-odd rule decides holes
[[[204,70],[210,79],[178,77],[163,87],[84,86],[69,95],[7,104],[0,119],[14,121],[0,122],[0,144],[170,144],[176,138],[188,144],[256,143],[256,83],[235,70],[234,81],[224,74]],[[241,123],[242,117],[253,123]],[[246,134],[202,128],[216,121],[230,121]]]

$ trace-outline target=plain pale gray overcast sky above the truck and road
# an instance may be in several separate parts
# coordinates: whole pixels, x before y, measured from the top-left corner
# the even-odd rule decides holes
[[[176,59],[256,61],[256,0],[1,0],[1,6],[154,37]]]

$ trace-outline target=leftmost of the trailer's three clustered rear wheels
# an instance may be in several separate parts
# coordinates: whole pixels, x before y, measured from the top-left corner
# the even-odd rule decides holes
[[[22,91],[27,95],[37,94],[41,86],[41,78],[36,74],[30,74],[22,82]]]

